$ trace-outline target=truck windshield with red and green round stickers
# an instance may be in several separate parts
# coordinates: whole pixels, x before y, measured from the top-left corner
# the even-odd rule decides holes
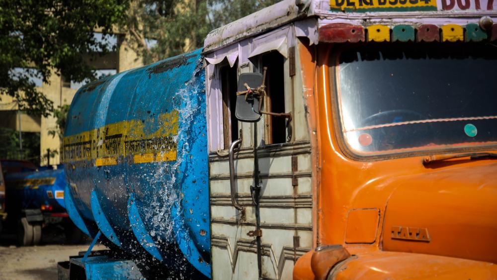
[[[334,60],[352,152],[497,144],[497,46],[376,43],[346,47]]]

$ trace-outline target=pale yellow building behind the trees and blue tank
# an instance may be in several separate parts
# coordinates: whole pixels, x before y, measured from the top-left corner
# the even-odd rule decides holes
[[[96,70],[97,78],[107,75],[113,75],[128,69],[135,67],[140,67],[143,65],[142,58],[128,46],[128,41],[125,40],[126,35],[114,35],[108,40],[109,44],[115,45],[115,51],[106,53],[105,55],[97,55],[93,59],[87,58],[88,64],[91,65]],[[95,33],[96,38],[101,38],[101,33]],[[98,50],[95,50],[98,52]],[[16,69],[16,71],[23,71],[23,69]],[[72,81],[66,81],[64,78],[64,73],[60,76],[52,74],[49,78],[50,83],[42,83],[41,80],[33,80],[37,86],[37,90],[45,94],[49,99],[54,102],[54,108],[64,104],[71,104],[75,93],[78,89],[83,86],[83,83],[74,83]],[[38,162],[41,166],[48,164],[48,151],[51,151],[50,165],[60,163],[60,146],[61,139],[55,135],[49,134],[49,131],[57,130],[57,119],[50,115],[49,117],[40,117],[28,115],[24,112],[19,112],[17,107],[17,101],[11,97],[2,95],[0,101],[0,128],[11,129],[15,131],[21,131],[23,139],[23,149],[36,149],[38,150],[39,145],[39,158],[37,155],[27,158],[27,156],[22,156],[23,159]],[[12,145],[19,145],[19,143],[12,143],[13,140],[5,139],[8,136],[3,135],[3,147],[5,149],[11,149]],[[39,137],[39,142],[36,140]],[[7,143],[8,142],[8,143]],[[38,144],[39,143],[39,144]],[[56,152],[54,152],[56,151]],[[4,153],[5,154],[5,153]],[[19,151],[12,151],[9,154],[6,151],[6,155],[9,158],[19,158]]]

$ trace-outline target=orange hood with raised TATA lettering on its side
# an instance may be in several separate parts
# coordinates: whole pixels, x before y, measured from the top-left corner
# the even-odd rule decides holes
[[[497,163],[394,181],[383,250],[497,262]]]

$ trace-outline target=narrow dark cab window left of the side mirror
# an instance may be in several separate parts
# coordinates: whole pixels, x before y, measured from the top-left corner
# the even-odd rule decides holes
[[[219,74],[221,76],[221,93],[223,97],[223,137],[224,149],[229,149],[231,142],[239,138],[238,120],[235,116],[237,100],[237,68],[229,65],[222,66]]]

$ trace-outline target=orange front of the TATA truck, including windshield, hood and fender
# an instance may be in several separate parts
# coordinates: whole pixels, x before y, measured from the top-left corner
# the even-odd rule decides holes
[[[497,49],[419,41],[318,50],[318,247],[295,279],[497,277]]]

